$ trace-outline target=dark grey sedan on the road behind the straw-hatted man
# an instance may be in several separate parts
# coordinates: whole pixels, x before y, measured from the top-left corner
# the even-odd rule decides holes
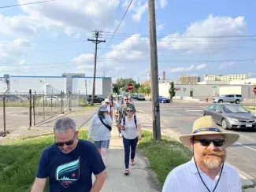
[[[213,116],[216,124],[224,129],[232,128],[255,128],[256,116],[250,113],[242,105],[213,104],[203,111],[204,116]]]

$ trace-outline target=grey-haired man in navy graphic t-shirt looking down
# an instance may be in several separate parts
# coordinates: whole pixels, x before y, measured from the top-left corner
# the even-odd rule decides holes
[[[76,123],[64,117],[54,124],[56,143],[46,147],[39,160],[32,192],[98,192],[105,182],[105,165],[95,144],[78,139]],[[95,175],[92,185],[91,175]]]

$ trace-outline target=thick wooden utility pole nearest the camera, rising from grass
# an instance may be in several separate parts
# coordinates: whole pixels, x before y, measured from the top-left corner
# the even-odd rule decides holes
[[[148,17],[150,24],[150,83],[151,83],[151,105],[153,120],[153,136],[155,141],[161,139],[160,127],[160,105],[158,90],[158,47],[155,22],[154,0],[148,0]]]

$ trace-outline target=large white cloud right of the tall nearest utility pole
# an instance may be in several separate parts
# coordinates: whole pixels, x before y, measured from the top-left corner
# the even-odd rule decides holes
[[[187,53],[213,52],[213,50],[207,49],[228,47],[238,42],[226,41],[235,38],[221,39],[211,38],[211,36],[243,35],[246,30],[247,25],[244,17],[213,17],[210,15],[206,20],[191,23],[182,35],[176,32],[158,40],[158,47],[169,50],[187,50]],[[194,38],[189,38],[190,36]]]

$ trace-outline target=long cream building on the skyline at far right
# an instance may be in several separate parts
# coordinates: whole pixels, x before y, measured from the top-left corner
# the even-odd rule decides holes
[[[233,81],[233,80],[241,80],[241,79],[248,79],[247,74],[238,74],[238,75],[228,75],[228,76],[223,76],[223,75],[218,75],[218,76],[208,76],[204,75],[203,76],[204,81]]]

